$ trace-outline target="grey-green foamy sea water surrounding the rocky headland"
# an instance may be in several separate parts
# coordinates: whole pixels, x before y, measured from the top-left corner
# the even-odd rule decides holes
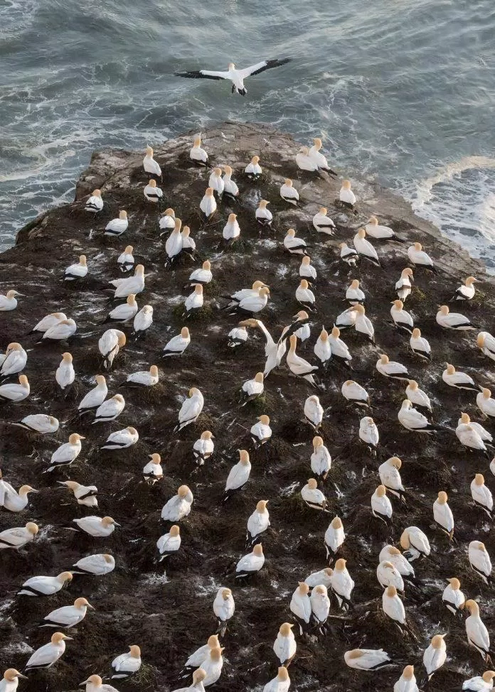
[[[322,135],[495,271],[491,0],[0,0],[0,247],[102,146],[224,119]],[[290,56],[247,82],[181,80]]]

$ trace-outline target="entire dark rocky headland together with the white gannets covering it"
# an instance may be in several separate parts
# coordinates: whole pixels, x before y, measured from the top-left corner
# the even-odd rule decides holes
[[[4,254],[1,692],[493,688],[493,286],[307,144],[90,168]]]

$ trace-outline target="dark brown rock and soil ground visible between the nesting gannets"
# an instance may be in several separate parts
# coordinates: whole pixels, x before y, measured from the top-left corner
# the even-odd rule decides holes
[[[297,587],[312,571],[324,568],[323,536],[334,514],[344,521],[346,543],[342,556],[356,582],[355,609],[343,620],[331,622],[326,639],[297,637],[297,658],[290,668],[292,688],[297,690],[391,690],[405,664],[415,664],[420,676],[422,652],[430,637],[448,632],[448,659],[432,679],[430,690],[460,689],[462,680],[481,674],[481,656],[466,643],[464,622],[442,610],[441,594],[445,580],[460,578],[462,590],[470,598],[480,597],[481,615],[490,632],[495,624],[493,591],[469,571],[467,545],[472,539],[485,542],[495,556],[491,524],[474,508],[469,484],[475,472],[483,472],[486,484],[495,491],[489,460],[482,455],[464,453],[453,428],[459,411],[467,411],[481,421],[475,396],[450,391],[441,381],[445,362],[469,372],[486,386],[494,386],[494,363],[479,352],[476,332],[446,333],[435,323],[437,306],[445,303],[466,276],[474,274],[479,284],[476,298],[459,308],[480,330],[493,330],[494,285],[477,261],[462,249],[440,237],[427,222],[415,217],[409,205],[374,185],[353,180],[359,214],[346,215],[336,209],[339,180],[321,179],[297,171],[294,156],[298,150],[292,138],[266,126],[223,124],[203,133],[203,146],[212,163],[229,163],[240,188],[240,201],[219,205],[216,217],[204,225],[198,205],[208,183],[209,171],[190,165],[188,150],[191,133],[157,148],[155,158],[164,171],[161,185],[166,205],[174,207],[184,225],[191,227],[196,240],[198,261],[179,261],[171,271],[164,269],[164,242],[159,239],[156,207],[144,200],[142,188],[147,175],[142,170],[142,153],[106,151],[95,153],[90,167],[82,174],[76,200],[47,212],[21,229],[16,246],[0,255],[0,291],[17,288],[26,297],[19,299],[14,312],[0,313],[0,348],[19,341],[28,350],[26,374],[31,396],[18,406],[0,404],[1,463],[5,480],[15,487],[28,483],[40,494],[31,495],[28,509],[20,514],[2,511],[0,530],[36,521],[41,535],[19,553],[0,552],[0,670],[14,666],[23,669],[32,649],[48,641],[50,631],[37,629],[50,610],[68,605],[84,595],[95,612],[78,626],[74,642],[48,672],[31,674],[21,681],[26,692],[75,690],[78,683],[95,672],[105,672],[112,658],[129,644],[142,647],[144,666],[139,679],[119,684],[122,690],[169,691],[180,687],[174,680],[188,655],[204,644],[215,631],[212,603],[220,585],[233,588],[236,612],[224,639],[225,666],[215,690],[253,689],[266,683],[277,671],[272,644],[278,627],[290,620],[289,601]],[[257,153],[264,169],[262,180],[250,183],[244,166]],[[332,162],[331,162],[332,163]],[[342,171],[343,177],[349,177]],[[294,180],[302,203],[294,209],[280,198],[284,177]],[[351,178],[353,179],[353,178]],[[85,196],[100,187],[104,210],[97,217],[84,211]],[[254,211],[260,198],[270,200],[274,229],[268,232],[255,223]],[[361,201],[363,200],[363,201]],[[331,239],[316,234],[312,215],[320,205],[329,208],[338,230]],[[129,229],[119,239],[101,233],[119,210],[129,214]],[[238,214],[242,243],[223,252],[221,232],[229,212]],[[347,271],[338,259],[338,244],[351,242],[358,227],[374,213],[380,222],[391,225],[405,244],[374,242],[383,268],[361,263]],[[318,271],[317,310],[312,337],[299,346],[301,355],[314,362],[312,347],[324,324],[331,327],[345,308],[343,298],[351,279],[362,282],[367,296],[367,315],[376,328],[376,346],[355,333],[342,333],[351,347],[354,372],[331,363],[319,391],[326,409],[323,437],[334,463],[324,492],[331,514],[321,514],[304,506],[299,491],[311,477],[312,430],[302,423],[304,400],[314,393],[307,383],[289,376],[285,365],[272,372],[265,382],[262,402],[238,409],[240,385],[263,368],[264,341],[250,330],[248,344],[238,350],[226,345],[235,317],[220,310],[223,296],[262,279],[271,287],[271,300],[261,313],[272,335],[278,336],[299,309],[294,292],[299,283],[299,259],[284,251],[282,240],[288,227],[312,246],[310,254]],[[409,244],[419,240],[435,259],[436,275],[415,271],[415,287],[406,308],[432,345],[432,364],[412,357],[408,337],[390,326],[390,301],[400,271],[408,266],[405,254]],[[97,340],[108,325],[107,312],[117,302],[109,300],[107,281],[117,278],[117,256],[126,244],[145,266],[147,286],[137,296],[141,308],[154,306],[154,325],[142,342],[129,342],[107,375],[109,395],[121,391],[127,405],[113,423],[92,426],[90,421],[73,420],[78,401],[100,372]],[[87,255],[89,274],[78,285],[60,281],[63,269]],[[161,347],[179,332],[184,321],[181,303],[189,290],[183,290],[188,275],[203,259],[211,259],[213,282],[205,288],[205,308],[190,320],[192,342],[181,359],[159,359]],[[457,308],[456,308],[457,309]],[[36,345],[28,335],[43,315],[64,310],[78,323],[78,338],[72,344]],[[130,329],[124,328],[129,335]],[[74,357],[76,383],[66,399],[55,386],[55,369],[63,351]],[[438,436],[406,433],[397,421],[397,411],[405,398],[404,383],[390,383],[380,377],[375,363],[381,352],[403,362],[435,406],[435,420],[449,431]],[[130,372],[159,364],[160,382],[150,391],[119,389]],[[352,377],[371,393],[372,415],[380,431],[377,458],[358,444],[358,423],[362,415],[345,406],[340,389]],[[205,397],[203,414],[194,426],[179,435],[172,434],[181,400],[191,386],[198,386]],[[56,436],[29,436],[9,422],[28,413],[52,413],[60,419]],[[228,504],[221,504],[225,479],[237,461],[238,448],[249,445],[246,431],[256,416],[267,413],[272,421],[272,441],[252,452],[252,474],[245,490]],[[139,443],[122,453],[98,450],[112,430],[135,425]],[[484,425],[493,433],[492,423]],[[193,472],[192,445],[201,431],[211,429],[216,437],[215,455],[204,467]],[[69,470],[43,475],[50,454],[72,432],[86,436],[80,458]],[[165,477],[154,487],[141,482],[141,470],[152,452],[161,454]],[[393,526],[388,532],[373,519],[370,497],[378,485],[379,463],[391,455],[403,460],[403,482],[408,489],[408,504],[393,501]],[[92,514],[78,507],[57,480],[95,483],[100,507],[97,514],[110,514],[122,528],[110,539],[91,539],[73,534],[63,527],[75,517]],[[170,558],[165,568],[154,563],[155,544],[164,533],[160,511],[164,502],[187,483],[194,493],[193,509],[181,522],[180,556]],[[449,493],[449,504],[456,520],[457,544],[432,526],[432,503],[439,490]],[[237,585],[227,576],[235,561],[244,554],[245,524],[259,499],[270,499],[271,528],[263,541],[265,568],[246,585]],[[420,588],[406,588],[405,610],[417,641],[403,639],[385,621],[381,612],[381,590],[376,580],[378,553],[385,542],[397,544],[406,526],[417,525],[430,538],[432,556],[415,563]],[[110,552],[115,556],[115,572],[102,578],[76,575],[68,589],[50,598],[16,599],[15,592],[26,578],[37,574],[55,575],[90,553]],[[339,615],[335,604],[333,615]],[[354,647],[383,647],[396,662],[395,668],[379,673],[358,673],[347,669],[344,651]],[[488,666],[486,666],[488,667]]]

